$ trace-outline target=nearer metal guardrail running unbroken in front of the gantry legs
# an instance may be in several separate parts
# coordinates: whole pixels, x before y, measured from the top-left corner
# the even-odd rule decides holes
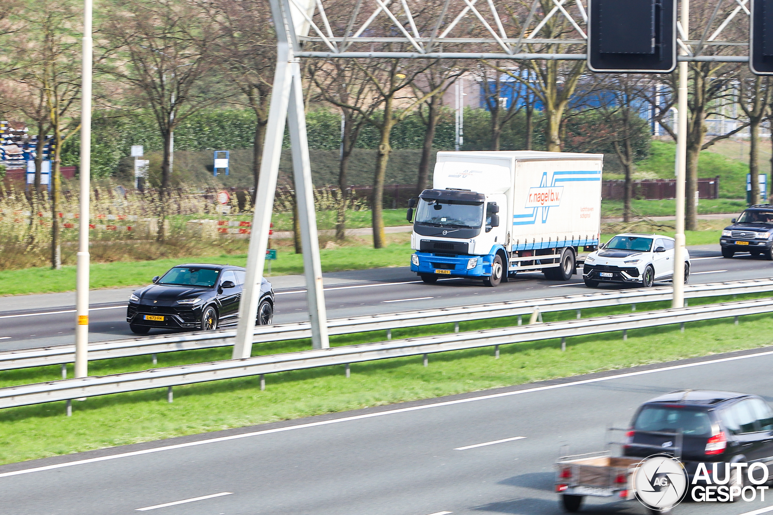
[[[106,376],[62,379],[34,385],[0,388],[0,408],[65,401],[126,391],[169,388],[220,379],[257,374],[302,370],[338,364],[375,361],[392,357],[460,351],[478,347],[516,344],[528,341],[601,334],[725,317],[773,312],[773,299],[740,300],[729,303],[681,307],[608,317],[562,320],[499,329],[476,330],[439,336],[406,338],[374,344],[345,345],[329,349],[272,354],[237,360],[213,361],[155,368]]]

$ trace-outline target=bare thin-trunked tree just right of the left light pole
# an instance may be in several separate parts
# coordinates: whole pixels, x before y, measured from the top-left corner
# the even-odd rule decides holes
[[[207,12],[183,0],[114,0],[104,36],[111,44],[102,69],[134,88],[152,111],[164,143],[160,188],[165,238],[165,196],[172,171],[174,130],[182,120],[223,101],[206,83],[219,36]]]

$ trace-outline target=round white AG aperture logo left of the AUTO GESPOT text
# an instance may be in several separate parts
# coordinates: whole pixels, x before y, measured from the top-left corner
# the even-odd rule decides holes
[[[669,512],[687,492],[687,473],[678,459],[656,454],[642,461],[634,473],[636,498],[649,510]]]

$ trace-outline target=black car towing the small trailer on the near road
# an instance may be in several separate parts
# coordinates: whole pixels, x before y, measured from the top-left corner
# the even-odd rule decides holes
[[[692,482],[699,462],[771,462],[773,410],[757,395],[673,391],[641,405],[627,436],[625,456],[680,456]],[[717,467],[717,473],[724,475],[724,466]]]

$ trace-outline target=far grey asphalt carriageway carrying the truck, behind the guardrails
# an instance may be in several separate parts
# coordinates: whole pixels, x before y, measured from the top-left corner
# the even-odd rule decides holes
[[[690,283],[773,276],[773,262],[748,255],[723,259],[718,245],[690,247],[690,256],[693,258]],[[340,278],[347,273],[330,275]],[[349,273],[349,276],[359,279],[348,282],[339,279],[335,285],[325,287],[327,313],[330,318],[458,306],[466,303],[522,300],[587,291],[579,271],[566,282],[545,280],[542,273],[523,273],[495,288],[482,286],[480,281],[458,279],[440,280],[435,285],[426,285],[407,267],[358,271]],[[280,280],[281,278],[277,278],[278,283]],[[621,286],[602,284],[600,289],[621,289]],[[277,289],[277,310],[274,317],[276,323],[308,320],[304,292],[302,287]],[[128,290],[122,296],[128,296]],[[133,336],[124,318],[125,305],[125,300],[92,305],[90,341]],[[74,307],[66,305],[0,311],[0,350],[72,343],[73,313]],[[152,334],[162,332],[164,331],[153,330]]]

